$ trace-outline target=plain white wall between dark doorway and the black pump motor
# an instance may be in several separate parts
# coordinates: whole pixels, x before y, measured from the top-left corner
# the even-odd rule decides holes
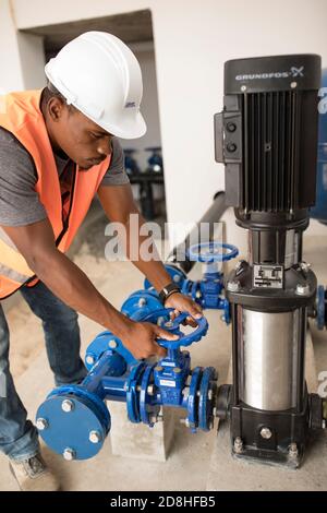
[[[12,0],[20,28],[150,9],[170,222],[196,220],[223,187],[213,115],[223,62],[317,52],[327,65],[326,0]]]

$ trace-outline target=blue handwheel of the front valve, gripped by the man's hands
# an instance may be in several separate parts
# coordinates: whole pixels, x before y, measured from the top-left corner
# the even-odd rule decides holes
[[[166,319],[170,318],[170,312],[173,312],[173,308],[162,308],[161,310],[156,310],[155,312],[142,318],[142,322],[156,323],[160,317]],[[194,342],[199,342],[202,337],[207,334],[209,327],[208,321],[205,317],[202,317],[199,319],[193,318],[193,320],[197,324],[197,329],[189,335],[185,335],[184,333],[179,331],[179,326],[186,320],[187,317],[190,317],[190,313],[182,312],[173,321],[169,319],[168,321],[160,324],[164,330],[178,334],[179,339],[165,341],[164,338],[158,338],[157,343],[166,349],[179,349],[182,346],[186,347],[193,344]]]

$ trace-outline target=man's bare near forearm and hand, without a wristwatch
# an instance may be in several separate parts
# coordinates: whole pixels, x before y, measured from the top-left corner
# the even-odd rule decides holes
[[[136,323],[116,310],[77,265],[61,253],[48,219],[27,226],[2,226],[37,277],[63,302],[117,335],[136,358],[165,355],[157,336],[174,336],[149,323]],[[60,322],[60,319],[58,319]]]

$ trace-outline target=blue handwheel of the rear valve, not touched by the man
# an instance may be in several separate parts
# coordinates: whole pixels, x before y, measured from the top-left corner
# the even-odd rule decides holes
[[[191,246],[187,250],[190,260],[204,263],[226,262],[234,259],[238,254],[239,250],[235,246],[222,242],[203,242]]]

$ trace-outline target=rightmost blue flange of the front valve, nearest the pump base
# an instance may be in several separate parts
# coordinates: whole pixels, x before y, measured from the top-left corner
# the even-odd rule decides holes
[[[198,427],[209,431],[214,422],[214,403],[217,395],[217,372],[214,367],[206,367],[202,374],[198,396]]]

